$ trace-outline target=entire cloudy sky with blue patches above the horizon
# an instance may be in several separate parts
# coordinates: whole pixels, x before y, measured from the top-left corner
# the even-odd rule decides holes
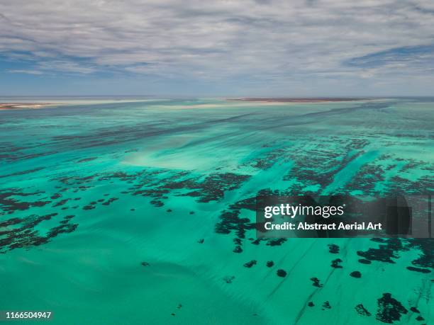
[[[433,0],[0,0],[2,96],[433,89]]]

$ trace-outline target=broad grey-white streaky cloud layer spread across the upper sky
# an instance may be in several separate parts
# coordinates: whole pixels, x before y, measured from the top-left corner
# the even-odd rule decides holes
[[[1,1],[0,53],[30,53],[38,71],[78,74],[275,82],[423,75],[411,57],[375,69],[345,62],[432,44],[433,11],[430,0]]]

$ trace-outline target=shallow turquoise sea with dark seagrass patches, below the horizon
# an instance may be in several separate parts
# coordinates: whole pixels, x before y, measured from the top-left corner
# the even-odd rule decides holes
[[[426,98],[0,111],[0,310],[50,310],[50,324],[430,324],[432,239],[256,241],[252,198],[433,193],[433,112]]]

